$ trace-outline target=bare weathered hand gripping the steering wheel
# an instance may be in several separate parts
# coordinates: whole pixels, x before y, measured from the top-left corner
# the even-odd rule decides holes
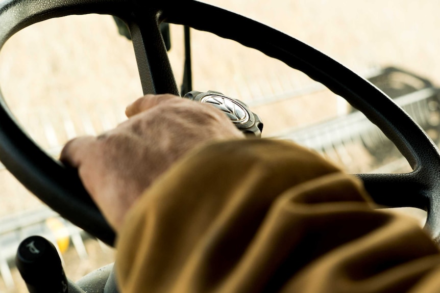
[[[189,150],[243,138],[211,105],[174,95],[146,95],[126,110],[129,120],[98,137],[69,141],[61,161],[78,169],[84,187],[116,230],[150,184]]]

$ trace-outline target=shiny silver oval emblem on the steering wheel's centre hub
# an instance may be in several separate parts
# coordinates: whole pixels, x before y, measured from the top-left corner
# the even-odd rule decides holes
[[[233,99],[218,95],[207,95],[200,101],[215,106],[215,108],[224,112],[236,124],[245,124],[249,121],[248,111]]]

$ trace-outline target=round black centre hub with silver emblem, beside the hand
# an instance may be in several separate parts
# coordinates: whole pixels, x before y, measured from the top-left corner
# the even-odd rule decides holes
[[[261,118],[249,110],[248,105],[242,101],[214,91],[204,93],[190,91],[183,97],[213,105],[215,108],[224,112],[229,119],[231,119],[232,123],[245,135],[257,138],[261,137],[261,131],[263,130]]]

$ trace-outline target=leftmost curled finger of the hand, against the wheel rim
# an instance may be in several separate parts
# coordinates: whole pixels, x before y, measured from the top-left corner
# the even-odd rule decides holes
[[[79,168],[87,157],[93,153],[93,144],[95,142],[96,138],[92,136],[70,140],[61,151],[60,161],[67,166]]]

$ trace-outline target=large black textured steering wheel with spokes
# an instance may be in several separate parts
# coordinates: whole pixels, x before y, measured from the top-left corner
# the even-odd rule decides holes
[[[193,16],[197,11],[198,16]],[[249,18],[193,0],[4,0],[0,48],[35,22],[71,14],[111,14],[129,26],[146,93],[179,95],[160,34],[162,21],[235,40],[298,69],[363,112],[397,146],[413,171],[356,174],[376,203],[427,211],[425,228],[440,242],[440,154],[393,100],[322,52]],[[189,17],[188,17],[189,16]],[[214,19],[214,21],[211,21]],[[254,37],[258,32],[258,38]],[[0,161],[32,193],[70,222],[113,245],[115,233],[90,199],[76,171],[48,156],[16,123],[0,93]]]

